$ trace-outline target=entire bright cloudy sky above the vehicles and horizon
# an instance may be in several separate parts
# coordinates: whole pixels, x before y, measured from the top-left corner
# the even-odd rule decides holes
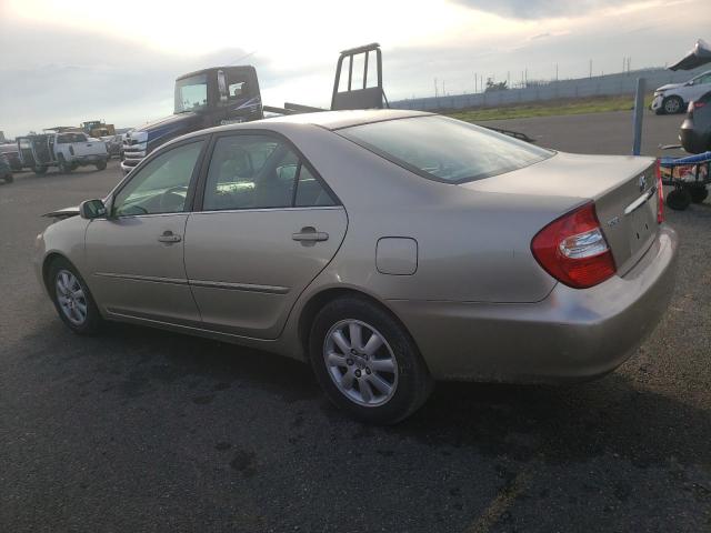
[[[328,105],[338,51],[377,41],[390,100],[672,63],[711,41],[709,0],[0,0],[0,130],[172,111],[177,76],[254,64],[264,103]]]

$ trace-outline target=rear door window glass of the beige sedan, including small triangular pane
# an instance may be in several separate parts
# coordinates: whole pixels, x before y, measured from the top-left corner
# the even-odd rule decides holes
[[[313,203],[316,199],[321,203]],[[333,205],[333,200],[286,142],[258,134],[217,141],[208,170],[204,210],[293,205]]]

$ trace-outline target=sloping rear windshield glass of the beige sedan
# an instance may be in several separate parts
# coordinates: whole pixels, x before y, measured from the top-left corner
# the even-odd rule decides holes
[[[447,117],[412,117],[338,133],[412,172],[462,183],[522,169],[554,152]]]

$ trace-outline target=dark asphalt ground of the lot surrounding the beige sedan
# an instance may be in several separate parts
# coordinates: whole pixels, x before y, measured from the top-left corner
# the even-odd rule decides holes
[[[675,141],[679,117],[645,120]],[[569,151],[631,147],[630,113],[495,125]],[[618,371],[439,383],[411,419],[372,428],[291,360],[139,326],[69,332],[31,268],[40,214],[119,179],[114,161],[0,185],[0,530],[711,530],[709,200],[668,211],[674,298]]]

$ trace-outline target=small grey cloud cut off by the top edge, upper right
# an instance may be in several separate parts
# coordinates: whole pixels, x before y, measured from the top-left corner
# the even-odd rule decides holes
[[[634,3],[619,0],[453,0],[478,11],[487,11],[515,19],[548,19],[555,17],[578,17],[600,8]]]

